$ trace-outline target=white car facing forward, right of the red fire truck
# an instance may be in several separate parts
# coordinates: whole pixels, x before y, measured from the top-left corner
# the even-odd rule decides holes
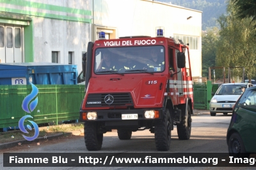
[[[251,83],[225,83],[221,84],[210,102],[210,114],[216,116],[216,113],[232,113],[233,106],[237,99],[243,94],[246,88],[252,87]]]

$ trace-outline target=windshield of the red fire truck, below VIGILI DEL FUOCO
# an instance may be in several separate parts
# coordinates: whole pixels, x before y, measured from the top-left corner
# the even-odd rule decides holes
[[[110,72],[111,71],[111,72]],[[155,73],[164,71],[164,47],[113,47],[95,50],[94,72]]]

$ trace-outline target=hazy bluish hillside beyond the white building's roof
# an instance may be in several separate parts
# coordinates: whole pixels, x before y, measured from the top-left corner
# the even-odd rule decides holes
[[[216,19],[226,12],[226,0],[155,0],[162,3],[172,3],[193,10],[202,11],[202,30],[207,27],[219,27]]]

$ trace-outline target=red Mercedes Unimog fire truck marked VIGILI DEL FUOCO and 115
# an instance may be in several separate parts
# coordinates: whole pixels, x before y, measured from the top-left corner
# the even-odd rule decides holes
[[[193,86],[188,44],[165,38],[127,36],[88,43],[83,61],[86,93],[80,108],[87,150],[100,150],[103,134],[116,129],[120,140],[132,132],[154,133],[157,150],[170,149],[171,131],[191,134]]]

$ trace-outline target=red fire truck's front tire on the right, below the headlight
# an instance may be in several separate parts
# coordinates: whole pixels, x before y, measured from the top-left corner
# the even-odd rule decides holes
[[[168,109],[165,109],[161,121],[155,123],[155,142],[159,151],[168,151],[171,144],[171,117]]]

